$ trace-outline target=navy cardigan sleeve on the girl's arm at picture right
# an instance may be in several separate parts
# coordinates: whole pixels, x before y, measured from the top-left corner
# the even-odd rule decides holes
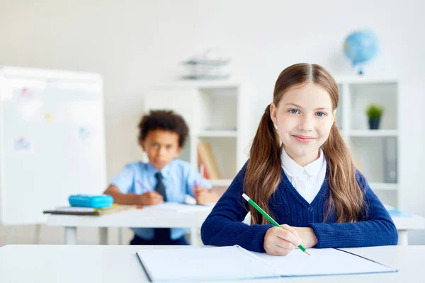
[[[364,176],[358,171],[356,171],[356,180],[361,189],[363,189],[365,200],[362,221],[342,224],[309,224],[318,240],[314,248],[397,245],[397,229],[387,209],[370,189]]]

